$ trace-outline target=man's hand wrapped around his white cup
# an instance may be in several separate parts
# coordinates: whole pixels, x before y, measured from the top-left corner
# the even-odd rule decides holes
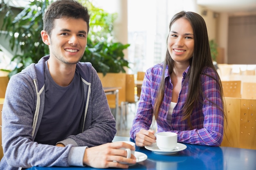
[[[119,162],[126,162],[129,164],[136,163],[136,157],[134,155],[131,155],[130,158],[126,158],[126,150],[121,150],[119,148],[135,150],[135,147],[121,141],[94,146],[85,149],[83,163],[94,168],[128,168],[128,164]]]

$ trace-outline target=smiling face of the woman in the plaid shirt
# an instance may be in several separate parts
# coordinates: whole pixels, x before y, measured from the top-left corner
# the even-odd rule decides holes
[[[194,35],[190,22],[177,19],[171,26],[168,36],[168,51],[175,63],[187,64],[194,53]]]

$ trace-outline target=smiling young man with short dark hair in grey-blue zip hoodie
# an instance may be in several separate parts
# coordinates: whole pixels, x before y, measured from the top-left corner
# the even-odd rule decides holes
[[[111,143],[115,119],[97,72],[79,62],[87,44],[88,10],[58,0],[44,16],[42,40],[50,54],[9,81],[2,110],[2,170],[31,166],[128,168],[136,163]]]

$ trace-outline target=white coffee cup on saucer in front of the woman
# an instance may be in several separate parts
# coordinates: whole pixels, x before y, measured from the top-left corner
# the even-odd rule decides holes
[[[157,147],[160,150],[173,150],[177,146],[177,133],[159,132],[157,137]]]

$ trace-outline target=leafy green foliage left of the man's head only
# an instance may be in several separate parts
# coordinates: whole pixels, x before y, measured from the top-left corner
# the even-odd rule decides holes
[[[43,43],[40,35],[43,29],[43,13],[49,2],[49,0],[31,1],[18,15],[13,16],[11,11],[7,11],[4,16],[1,29],[9,33],[6,38],[11,35],[9,40],[11,50],[16,53],[11,61],[17,63],[9,76],[19,73],[29,64],[38,62],[43,55],[49,54],[48,46]]]

